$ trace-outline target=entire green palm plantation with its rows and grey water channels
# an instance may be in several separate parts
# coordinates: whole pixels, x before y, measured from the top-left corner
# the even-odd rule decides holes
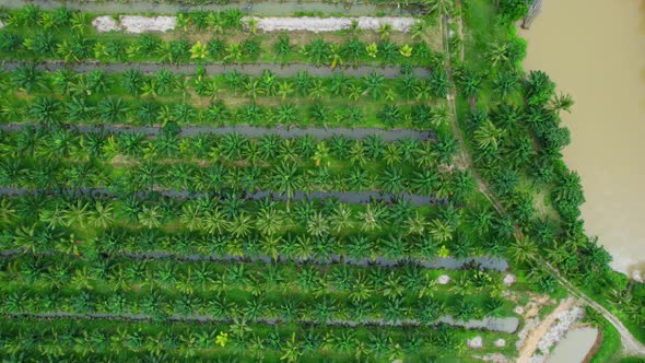
[[[540,258],[615,279],[559,159],[570,101],[504,9],[130,34],[74,7],[0,11],[3,360],[512,361],[568,293]]]

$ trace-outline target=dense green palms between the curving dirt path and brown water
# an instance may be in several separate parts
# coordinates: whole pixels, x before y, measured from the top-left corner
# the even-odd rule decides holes
[[[530,237],[516,245],[527,256],[543,256],[645,341],[645,285],[612,271],[609,254],[585,235],[580,178],[562,161],[571,138],[560,114],[573,101],[558,94],[544,72],[521,69],[525,47],[512,23],[526,13],[520,2],[501,1],[496,22],[489,2],[464,2],[467,51],[454,75],[474,166]],[[527,260],[527,268],[541,261]]]

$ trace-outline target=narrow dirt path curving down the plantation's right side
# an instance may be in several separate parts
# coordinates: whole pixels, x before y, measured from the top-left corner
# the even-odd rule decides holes
[[[457,4],[457,7],[461,7],[460,1],[456,1],[456,4]],[[464,38],[461,16],[456,19],[456,21],[458,22],[459,36],[461,38]],[[442,17],[442,33],[443,33],[442,39],[444,40],[444,50],[446,51],[446,54],[449,55],[447,24],[445,24],[445,19],[443,19],[443,17]],[[465,60],[465,52],[464,51],[461,51],[461,54],[460,54],[460,60],[461,61]],[[448,75],[449,75],[450,82],[452,82],[453,81],[453,72],[452,72],[452,68],[449,66],[449,62],[450,61],[449,61],[449,57],[448,57],[447,69],[448,69]],[[481,194],[483,194],[486,197],[486,199],[489,199],[491,201],[491,204],[495,208],[497,213],[500,213],[501,215],[506,215],[508,213],[507,213],[506,209],[504,208],[504,206],[502,206],[500,200],[497,200],[497,198],[494,196],[494,194],[490,190],[485,180],[477,173],[476,168],[472,166],[472,156],[468,152],[466,142],[464,141],[464,136],[461,133],[461,129],[460,129],[459,125],[457,124],[458,115],[457,115],[457,106],[455,104],[455,96],[456,96],[456,91],[455,91],[455,87],[453,87],[453,90],[450,90],[450,93],[448,94],[447,98],[448,98],[448,103],[450,106],[450,110],[453,113],[450,125],[453,127],[453,132],[455,134],[455,138],[457,139],[457,142],[459,143],[459,155],[457,159],[457,164],[459,167],[468,168],[472,172],[472,176],[477,180],[477,186],[478,186],[479,191]],[[470,106],[471,107],[474,106],[472,99],[470,101]],[[519,226],[515,225],[514,229],[515,229],[515,233],[514,233],[515,237],[518,239],[524,238],[524,233],[521,232]],[[563,277],[560,273],[560,271],[556,268],[554,268],[553,266],[551,266],[551,264],[549,264],[549,261],[543,259],[542,256],[531,256],[530,258],[535,262],[546,267],[547,270],[558,280],[558,282],[572,296],[577,297],[582,303],[584,303],[584,304],[590,306],[591,308],[594,308],[595,311],[599,312],[600,314],[602,314],[602,317],[605,317],[609,323],[611,323],[611,325],[619,331],[619,333],[621,336],[621,342],[623,346],[623,353],[624,354],[645,356],[645,346],[643,346],[638,340],[636,340],[634,338],[634,336],[632,336],[630,330],[622,324],[622,321],[618,317],[615,317],[615,315],[613,315],[611,312],[609,312],[605,306],[595,302],[593,298],[590,298],[584,292],[582,292],[578,288],[576,288],[573,283],[571,283],[565,277]],[[543,336],[543,333],[542,333],[542,336]],[[538,339],[538,341],[539,341],[539,339]],[[535,351],[535,349],[533,349],[533,351]],[[521,360],[520,360],[520,362],[521,362]]]

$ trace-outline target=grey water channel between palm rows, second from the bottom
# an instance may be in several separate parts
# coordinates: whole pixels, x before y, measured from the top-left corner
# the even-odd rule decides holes
[[[0,249],[0,257],[16,257],[23,255],[24,251],[21,249]],[[55,256],[61,255],[57,250],[43,250],[38,251],[42,256]],[[150,253],[116,253],[116,257],[129,258],[136,260],[149,260],[149,259],[175,259],[178,261],[210,261],[210,262],[294,262],[298,265],[316,265],[316,266],[330,266],[344,264],[355,267],[398,267],[404,265],[414,265],[429,270],[464,270],[479,267],[486,270],[495,271],[507,271],[508,262],[503,257],[495,256],[480,256],[480,257],[435,257],[433,259],[421,259],[421,258],[400,258],[398,260],[391,258],[385,258],[377,256],[376,258],[352,258],[341,255],[330,255],[329,258],[292,258],[283,255],[278,255],[275,258],[271,256],[237,256],[237,255],[195,255],[195,254],[175,254],[166,251],[150,251]]]

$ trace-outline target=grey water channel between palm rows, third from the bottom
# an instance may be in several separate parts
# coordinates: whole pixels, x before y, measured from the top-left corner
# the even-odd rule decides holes
[[[152,192],[157,192],[164,197],[168,198],[200,198],[207,196],[214,196],[218,194],[210,194],[210,192],[200,192],[200,191],[188,191],[188,190],[173,190],[173,189],[162,189],[162,190],[151,190],[151,191],[139,191],[136,194],[138,198],[144,198]],[[116,197],[115,194],[110,192],[105,188],[62,188],[62,189],[26,189],[26,188],[8,188],[8,187],[0,187],[0,196],[23,196],[23,195],[35,195],[35,194],[45,194],[45,195],[90,195],[90,196],[108,196],[108,197]],[[219,195],[221,197],[226,197],[226,195]],[[271,199],[278,201],[298,201],[298,200],[315,200],[315,199],[337,199],[340,202],[349,203],[349,204],[367,204],[371,201],[383,201],[385,203],[392,203],[397,200],[406,200],[410,202],[412,206],[420,207],[420,206],[431,206],[431,204],[445,204],[448,202],[446,198],[435,198],[432,196],[421,196],[421,195],[411,195],[407,192],[402,192],[400,195],[390,195],[390,194],[383,194],[378,191],[295,191],[291,197],[288,197],[283,192],[275,192],[269,190],[258,190],[255,192],[245,192],[242,196],[243,199],[246,200],[262,200],[262,199]]]

